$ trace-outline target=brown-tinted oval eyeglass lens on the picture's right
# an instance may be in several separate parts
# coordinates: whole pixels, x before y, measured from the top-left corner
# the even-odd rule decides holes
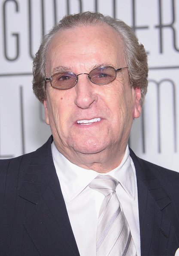
[[[116,78],[116,72],[113,67],[99,67],[91,70],[89,78],[94,84],[108,84]]]

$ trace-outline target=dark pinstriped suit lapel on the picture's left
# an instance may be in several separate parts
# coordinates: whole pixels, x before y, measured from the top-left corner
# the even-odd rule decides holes
[[[29,214],[24,222],[40,255],[79,255],[51,152],[52,137],[33,153],[21,184]]]

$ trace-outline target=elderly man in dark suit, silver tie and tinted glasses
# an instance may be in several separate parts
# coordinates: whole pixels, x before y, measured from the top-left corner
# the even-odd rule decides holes
[[[34,59],[52,137],[0,162],[0,255],[174,255],[179,174],[127,141],[147,90],[143,45],[100,13],[65,16]]]

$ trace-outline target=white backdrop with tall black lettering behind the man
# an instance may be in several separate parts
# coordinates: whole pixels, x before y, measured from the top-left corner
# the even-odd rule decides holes
[[[124,20],[144,44],[149,89],[130,146],[179,172],[179,0],[0,0],[0,158],[36,150],[51,134],[33,95],[32,59],[55,22],[88,10]]]

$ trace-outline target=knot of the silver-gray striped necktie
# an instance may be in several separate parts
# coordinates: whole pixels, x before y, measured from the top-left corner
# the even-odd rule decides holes
[[[109,175],[98,175],[88,186],[107,196],[115,192],[117,185],[118,181],[115,178]]]

